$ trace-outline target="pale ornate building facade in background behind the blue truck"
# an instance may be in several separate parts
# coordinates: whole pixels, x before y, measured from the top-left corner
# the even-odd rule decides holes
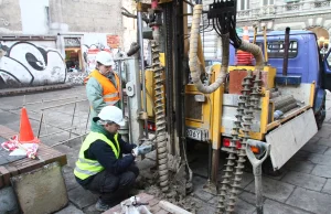
[[[213,0],[203,2],[207,7]],[[325,52],[331,34],[331,1],[237,0],[237,28],[248,26],[253,30],[253,25],[259,30],[266,26],[268,31],[285,31],[287,26],[291,30],[313,31],[322,52]],[[220,38],[214,31],[204,33],[204,52],[207,61],[221,57]]]

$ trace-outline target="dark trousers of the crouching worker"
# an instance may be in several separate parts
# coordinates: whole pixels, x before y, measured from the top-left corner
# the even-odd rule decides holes
[[[104,170],[96,174],[85,188],[93,193],[100,194],[103,203],[116,205],[128,197],[138,175],[139,169],[136,164],[117,175]]]

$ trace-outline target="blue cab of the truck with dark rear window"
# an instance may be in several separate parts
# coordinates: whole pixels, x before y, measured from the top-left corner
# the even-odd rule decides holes
[[[253,35],[250,35],[253,40]],[[331,90],[330,51],[322,55],[312,31],[290,31],[287,75],[298,79],[293,85],[316,83],[313,113],[320,129],[325,118],[325,89]],[[284,73],[285,31],[267,33],[268,64],[276,68],[276,82]],[[257,36],[256,44],[265,52],[264,38]],[[329,61],[328,61],[329,60]],[[229,64],[235,64],[235,50],[231,46]]]

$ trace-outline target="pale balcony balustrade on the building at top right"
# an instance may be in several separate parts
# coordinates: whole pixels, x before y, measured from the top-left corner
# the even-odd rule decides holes
[[[260,20],[330,12],[330,0],[299,1],[237,11],[237,20]]]

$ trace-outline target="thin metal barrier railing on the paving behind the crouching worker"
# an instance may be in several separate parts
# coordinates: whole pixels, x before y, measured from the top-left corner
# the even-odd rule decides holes
[[[35,115],[29,115],[29,119],[38,122],[35,136],[42,142],[51,147],[56,147],[78,138],[82,141],[83,137],[88,133],[90,108],[89,105],[86,105],[88,109],[79,107],[81,103],[87,101],[87,98],[82,97],[82,95],[77,94],[76,96],[57,99],[41,99],[33,103],[26,103],[25,100],[26,96],[24,95],[22,107],[25,107],[28,113]],[[21,107],[9,109],[9,111],[18,114],[15,110],[19,109]],[[54,119],[55,114],[58,118]],[[61,140],[52,139],[53,136],[61,136]]]

